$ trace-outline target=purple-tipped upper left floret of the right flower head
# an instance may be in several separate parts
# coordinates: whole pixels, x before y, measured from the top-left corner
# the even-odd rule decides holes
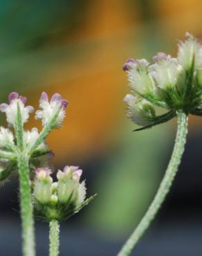
[[[129,59],[125,62],[123,70],[127,71],[129,87],[132,91],[140,94],[155,91],[155,84],[152,76],[148,73],[149,62],[147,60]]]

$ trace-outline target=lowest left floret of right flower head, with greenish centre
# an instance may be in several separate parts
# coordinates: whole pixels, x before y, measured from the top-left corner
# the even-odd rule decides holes
[[[136,125],[147,126],[155,117],[155,111],[147,100],[140,99],[134,95],[127,94],[124,98],[127,103],[127,116],[136,123]]]

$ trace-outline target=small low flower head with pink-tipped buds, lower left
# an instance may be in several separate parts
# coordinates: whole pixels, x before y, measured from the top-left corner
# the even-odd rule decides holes
[[[44,221],[63,221],[78,212],[93,199],[86,199],[85,182],[80,183],[82,170],[75,166],[58,170],[57,182],[48,168],[37,168],[33,198],[35,215]]]

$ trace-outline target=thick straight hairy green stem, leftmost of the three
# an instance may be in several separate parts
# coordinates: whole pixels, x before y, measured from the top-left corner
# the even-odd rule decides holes
[[[17,165],[19,171],[23,255],[35,256],[33,203],[30,190],[28,157],[24,156],[24,154],[19,154]]]

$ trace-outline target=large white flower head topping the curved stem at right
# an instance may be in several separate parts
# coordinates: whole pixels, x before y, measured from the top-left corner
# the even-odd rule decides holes
[[[166,122],[179,110],[202,116],[202,45],[186,33],[178,43],[176,58],[157,53],[153,64],[145,59],[129,59],[127,72],[132,94],[126,95],[127,116],[145,129]],[[167,110],[156,115],[155,106]]]

